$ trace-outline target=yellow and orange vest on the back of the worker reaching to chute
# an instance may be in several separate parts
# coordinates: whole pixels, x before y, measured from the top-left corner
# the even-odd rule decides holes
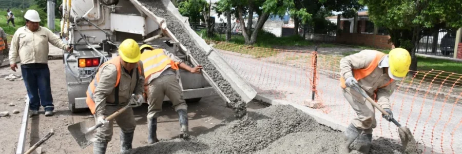
[[[151,74],[162,71],[166,67],[178,70],[178,63],[165,55],[163,49],[144,51],[141,54],[141,62],[143,62],[145,79],[149,79]]]

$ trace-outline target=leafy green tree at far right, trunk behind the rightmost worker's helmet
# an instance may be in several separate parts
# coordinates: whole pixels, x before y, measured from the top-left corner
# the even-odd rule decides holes
[[[374,25],[386,27],[390,43],[407,49],[412,57],[410,70],[417,70],[416,46],[421,33],[431,33],[445,27],[462,27],[461,1],[421,0],[360,0],[369,7]]]

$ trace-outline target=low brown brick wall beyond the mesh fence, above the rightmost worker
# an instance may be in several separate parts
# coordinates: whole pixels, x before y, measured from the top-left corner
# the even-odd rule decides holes
[[[371,46],[382,49],[392,49],[393,45],[388,44],[389,35],[374,35],[360,33],[340,33],[336,37],[336,43],[348,45]]]

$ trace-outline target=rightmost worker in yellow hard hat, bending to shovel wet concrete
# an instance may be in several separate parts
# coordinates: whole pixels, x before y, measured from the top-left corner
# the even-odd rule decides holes
[[[389,54],[376,50],[362,50],[359,53],[345,56],[340,60],[340,82],[343,95],[350,103],[357,116],[345,130],[345,143],[340,148],[343,153],[350,152],[350,144],[357,138],[359,148],[363,153],[369,153],[372,144],[372,129],[377,126],[375,108],[358,91],[359,85],[387,113],[382,117],[393,118],[390,109],[390,95],[393,93],[396,81],[402,80],[409,72],[411,56],[406,49],[395,48]]]

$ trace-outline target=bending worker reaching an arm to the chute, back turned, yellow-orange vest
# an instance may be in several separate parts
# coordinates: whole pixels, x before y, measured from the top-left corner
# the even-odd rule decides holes
[[[187,105],[178,82],[176,70],[178,68],[191,73],[200,74],[202,66],[189,67],[177,56],[164,49],[154,49],[149,45],[141,46],[141,61],[145,72],[145,93],[148,107],[148,144],[156,143],[157,118],[162,111],[165,95],[173,103],[180,121],[181,135],[188,132]]]

